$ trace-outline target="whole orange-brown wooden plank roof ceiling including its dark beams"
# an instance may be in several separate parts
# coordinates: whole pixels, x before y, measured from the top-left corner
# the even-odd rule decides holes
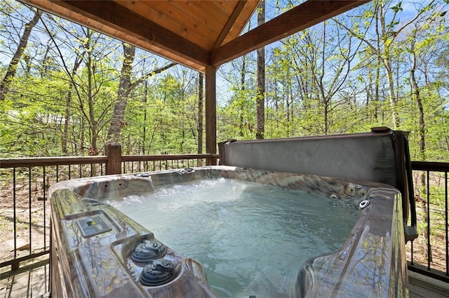
[[[309,0],[241,35],[259,0],[21,0],[205,72],[368,2]]]

